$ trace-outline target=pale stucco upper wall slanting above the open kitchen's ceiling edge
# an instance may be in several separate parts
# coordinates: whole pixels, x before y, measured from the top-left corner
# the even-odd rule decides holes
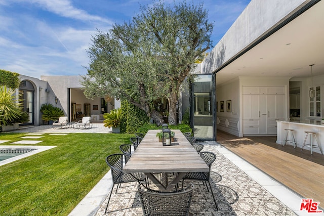
[[[201,72],[214,72],[309,2],[252,0],[202,63]]]

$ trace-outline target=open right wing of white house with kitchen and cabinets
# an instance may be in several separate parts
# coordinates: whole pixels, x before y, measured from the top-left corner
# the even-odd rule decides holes
[[[197,72],[216,74],[216,114],[205,116],[213,120],[213,136],[216,128],[238,137],[273,136],[277,120],[320,123],[323,11],[323,1],[251,1]],[[193,116],[198,106],[193,100]],[[193,120],[193,127],[200,124]]]

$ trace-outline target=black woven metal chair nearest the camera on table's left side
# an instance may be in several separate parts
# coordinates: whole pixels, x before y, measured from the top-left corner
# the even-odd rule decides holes
[[[105,213],[107,212],[110,197],[112,194],[112,189],[115,184],[119,185],[122,183],[129,183],[129,182],[138,182],[140,184],[141,181],[145,180],[145,175],[141,172],[133,172],[131,174],[127,172],[123,172],[123,158],[124,158],[124,154],[111,154],[106,157],[106,163],[111,170],[112,187],[109,192],[108,203],[105,209]],[[118,185],[115,194],[117,194]]]

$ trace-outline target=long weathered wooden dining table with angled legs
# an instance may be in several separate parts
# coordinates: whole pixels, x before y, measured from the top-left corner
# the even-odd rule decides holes
[[[124,172],[144,172],[144,174],[161,190],[171,191],[187,172],[209,171],[209,166],[200,157],[179,129],[175,132],[171,146],[163,146],[156,134],[161,130],[149,130],[136,148]],[[173,173],[173,178],[168,177]],[[154,174],[162,174],[156,178]]]

